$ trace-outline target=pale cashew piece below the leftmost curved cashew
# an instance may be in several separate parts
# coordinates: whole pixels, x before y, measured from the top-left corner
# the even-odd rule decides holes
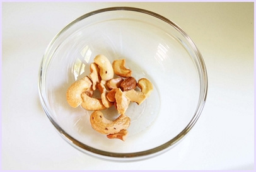
[[[90,96],[86,95],[86,93],[82,93],[81,97],[83,98],[83,102],[81,103],[81,106],[85,110],[103,110],[106,108],[103,105],[101,99],[91,98]]]

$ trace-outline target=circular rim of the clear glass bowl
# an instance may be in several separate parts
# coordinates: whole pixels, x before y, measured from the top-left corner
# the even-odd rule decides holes
[[[49,110],[47,109],[47,105],[44,100],[44,96],[42,95],[42,71],[44,70],[44,59],[47,58],[47,52],[49,51],[50,47],[54,44],[55,40],[64,33],[68,28],[73,26],[75,23],[78,23],[81,20],[84,20],[90,16],[93,16],[95,14],[104,13],[108,11],[132,11],[132,12],[138,12],[138,13],[144,13],[148,14],[150,16],[153,16],[155,18],[158,18],[162,21],[165,21],[169,25],[173,26],[178,32],[182,33],[183,37],[189,42],[190,46],[194,50],[197,60],[200,64],[200,71],[201,75],[199,74],[200,79],[200,96],[199,96],[199,103],[197,104],[197,108],[195,110],[194,116],[190,120],[189,124],[183,129],[178,135],[173,137],[168,142],[165,142],[164,144],[161,144],[158,147],[154,147],[152,149],[148,149],[146,151],[139,151],[139,152],[129,152],[129,153],[118,153],[118,152],[108,152],[108,151],[102,151],[99,149],[95,149],[93,147],[87,146],[86,144],[83,144],[82,142],[79,142],[78,140],[74,139],[71,135],[67,134],[64,129],[62,129],[57,122],[51,117]],[[98,158],[103,159],[110,159],[110,160],[120,160],[120,161],[134,161],[138,159],[146,159],[150,158],[152,156],[156,156],[160,154],[161,152],[165,152],[168,149],[174,145],[177,144],[183,137],[192,129],[192,127],[195,125],[195,122],[197,122],[199,116],[201,115],[202,109],[204,108],[204,104],[206,102],[207,97],[207,87],[208,87],[208,81],[207,81],[207,72],[206,72],[206,66],[204,64],[204,60],[202,59],[202,55],[197,49],[195,43],[191,40],[191,38],[173,21],[168,20],[167,18],[161,16],[160,14],[154,13],[152,11],[148,11],[146,9],[141,8],[134,8],[134,7],[127,7],[127,6],[118,6],[118,7],[110,7],[110,8],[102,8],[97,9],[95,11],[91,11],[90,13],[86,13],[83,16],[80,16],[74,21],[71,21],[67,26],[65,26],[55,37],[52,39],[52,41],[49,43],[47,49],[45,50],[45,54],[42,58],[42,62],[40,64],[39,69],[39,76],[38,76],[38,91],[40,96],[40,103],[44,109],[44,112],[46,113],[47,117],[49,118],[50,122],[54,125],[55,129],[59,132],[59,134],[62,136],[64,140],[66,140],[71,146],[75,147],[79,151],[85,152],[88,155],[96,156]]]

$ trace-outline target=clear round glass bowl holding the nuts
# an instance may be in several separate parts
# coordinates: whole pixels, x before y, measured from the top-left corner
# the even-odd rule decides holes
[[[98,54],[110,62],[125,58],[137,80],[146,77],[154,86],[142,105],[129,105],[125,142],[93,130],[91,112],[66,101],[67,88],[89,74]],[[169,150],[192,129],[206,101],[207,73],[199,50],[178,25],[144,9],[114,7],[84,14],[54,37],[38,86],[47,117],[71,146],[98,158],[137,161]],[[117,115],[114,107],[103,113],[109,119]]]

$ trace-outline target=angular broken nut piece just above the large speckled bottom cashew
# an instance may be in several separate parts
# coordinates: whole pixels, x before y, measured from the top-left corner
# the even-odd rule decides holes
[[[115,93],[115,102],[117,102],[117,112],[119,114],[125,114],[125,111],[129,106],[130,100],[129,98],[127,98],[127,96],[125,96],[120,88],[117,89],[117,92]]]

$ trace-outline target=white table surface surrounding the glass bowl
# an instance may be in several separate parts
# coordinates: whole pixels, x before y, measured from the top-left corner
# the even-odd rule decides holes
[[[159,13],[190,35],[204,57],[206,105],[185,139],[156,158],[115,163],[69,146],[38,97],[50,40],[84,13],[132,6]],[[3,169],[253,169],[253,3],[3,3]]]

